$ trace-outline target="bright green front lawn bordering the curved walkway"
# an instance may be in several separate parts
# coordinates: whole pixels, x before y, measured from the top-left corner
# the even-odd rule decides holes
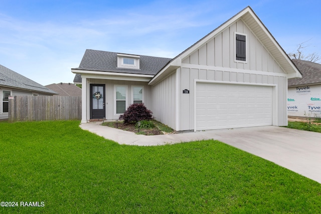
[[[0,132],[0,201],[19,203],[0,213],[321,212],[321,184],[215,140],[119,145],[79,121]]]

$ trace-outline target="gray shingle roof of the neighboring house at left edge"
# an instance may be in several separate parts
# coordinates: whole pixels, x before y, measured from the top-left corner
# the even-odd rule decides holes
[[[56,92],[46,88],[27,77],[0,65],[0,86],[9,88],[20,88],[34,92],[44,92],[48,94],[56,94]]]

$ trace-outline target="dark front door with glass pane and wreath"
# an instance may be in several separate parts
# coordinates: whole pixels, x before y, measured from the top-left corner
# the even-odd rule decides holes
[[[90,119],[102,119],[105,113],[105,85],[90,84]]]

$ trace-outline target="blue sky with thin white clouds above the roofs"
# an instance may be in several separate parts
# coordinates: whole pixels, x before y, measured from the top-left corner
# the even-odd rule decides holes
[[[72,83],[86,49],[173,58],[247,6],[287,53],[321,55],[319,0],[0,0],[0,65]]]

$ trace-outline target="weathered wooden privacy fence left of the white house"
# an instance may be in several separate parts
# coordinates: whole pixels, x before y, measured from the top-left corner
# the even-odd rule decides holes
[[[9,122],[81,120],[81,97],[9,97]]]

